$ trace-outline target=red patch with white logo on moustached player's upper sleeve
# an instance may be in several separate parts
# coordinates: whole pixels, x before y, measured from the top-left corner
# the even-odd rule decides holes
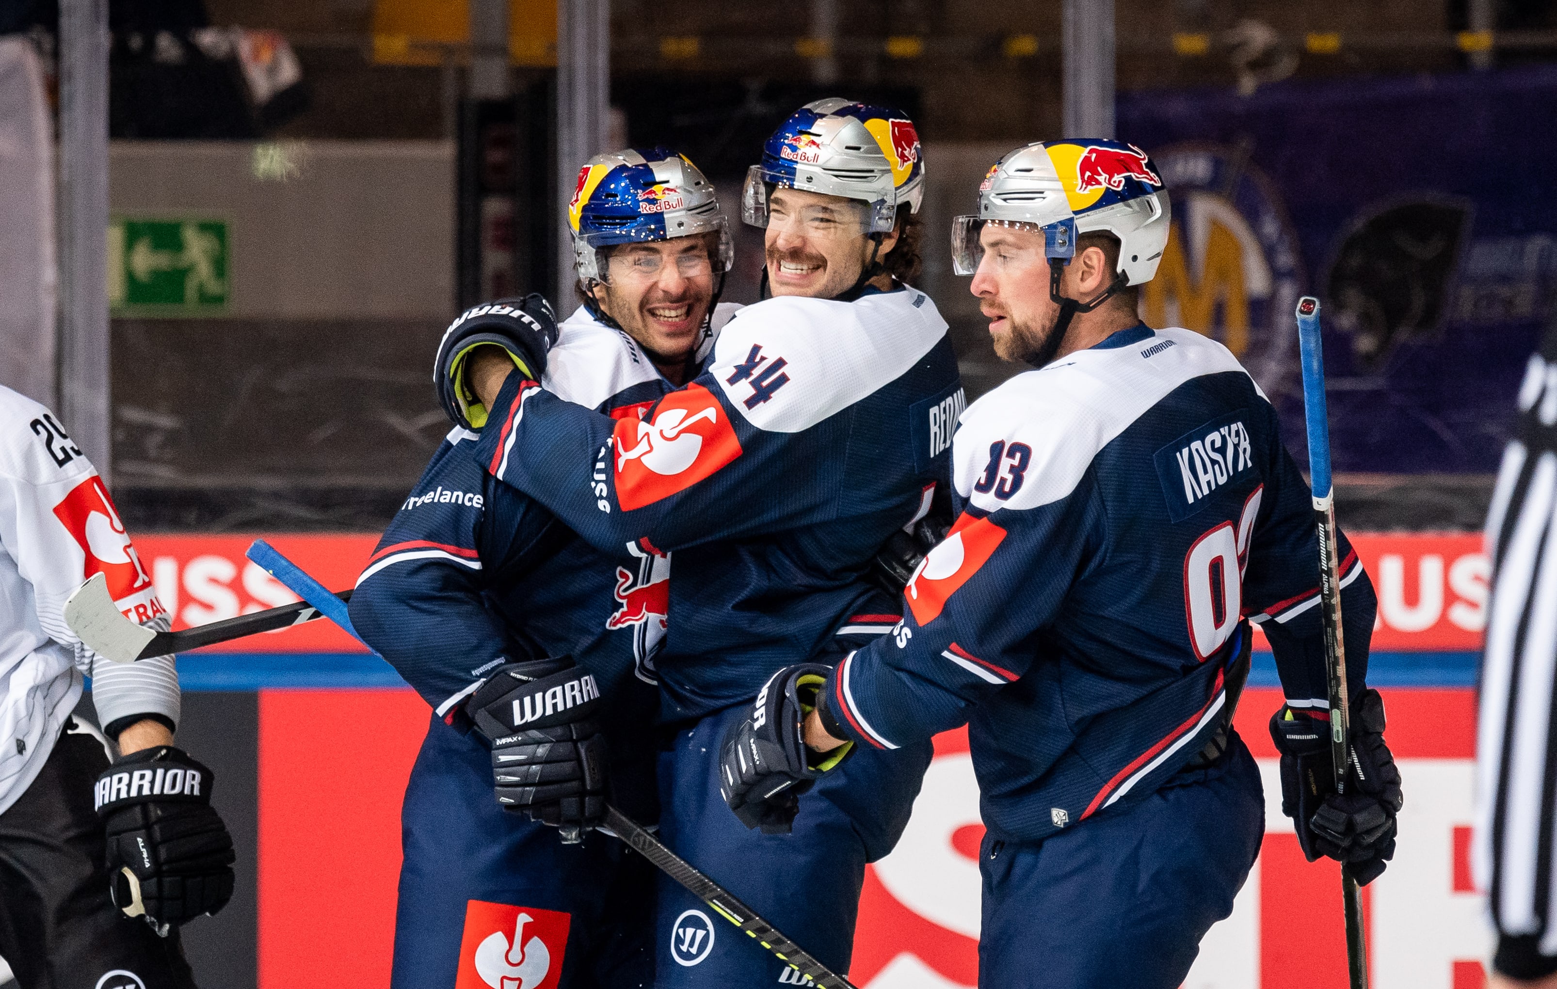
[[[684,491],[741,456],[729,415],[701,384],[671,392],[652,414],[617,423],[617,501],[641,508]]]

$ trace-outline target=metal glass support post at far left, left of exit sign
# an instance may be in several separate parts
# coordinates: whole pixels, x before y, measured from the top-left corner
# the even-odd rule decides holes
[[[59,5],[59,415],[109,481],[107,0]]]

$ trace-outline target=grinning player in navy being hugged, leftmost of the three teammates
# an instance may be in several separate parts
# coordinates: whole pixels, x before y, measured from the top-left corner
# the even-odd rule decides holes
[[[733,257],[726,219],[691,162],[657,148],[584,165],[568,222],[585,306],[561,325],[543,381],[635,418],[696,373],[735,308],[715,308]],[[537,319],[551,316],[532,295],[456,325],[480,339]],[[483,425],[484,409],[458,401]],[[433,708],[403,806],[392,986],[648,986],[652,868],[582,830],[607,785],[624,813],[657,815],[654,653],[671,561],[576,538],[464,456],[475,440],[448,434],[350,603]]]

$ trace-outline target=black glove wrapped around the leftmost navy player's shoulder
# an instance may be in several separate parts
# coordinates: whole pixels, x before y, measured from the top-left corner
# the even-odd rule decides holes
[[[486,425],[487,409],[466,381],[466,358],[476,347],[501,347],[522,375],[540,381],[547,373],[547,351],[556,342],[557,317],[540,292],[466,309],[448,323],[433,361],[433,384],[444,414],[466,429]]]

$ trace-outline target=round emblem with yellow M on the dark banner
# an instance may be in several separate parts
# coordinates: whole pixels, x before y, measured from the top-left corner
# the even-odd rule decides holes
[[[1233,149],[1188,145],[1152,160],[1172,194],[1172,232],[1141,286],[1141,317],[1222,342],[1280,406],[1297,389],[1291,320],[1305,275],[1277,187]]]

